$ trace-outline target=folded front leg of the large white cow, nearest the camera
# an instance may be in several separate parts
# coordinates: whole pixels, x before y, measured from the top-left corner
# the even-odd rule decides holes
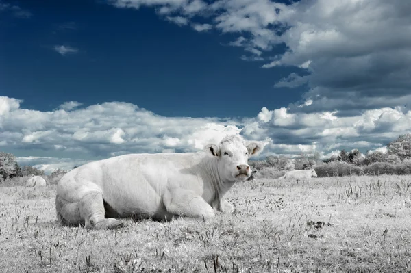
[[[192,190],[170,189],[163,194],[162,201],[166,210],[176,216],[188,216],[201,220],[215,217],[214,209]]]

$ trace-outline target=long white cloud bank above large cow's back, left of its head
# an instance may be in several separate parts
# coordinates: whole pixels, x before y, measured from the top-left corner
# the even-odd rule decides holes
[[[27,153],[40,150],[59,157],[75,153],[101,158],[123,153],[199,151],[241,131],[235,120],[169,118],[131,103],[75,108],[81,103],[69,102],[60,109],[40,112],[21,109],[19,102],[0,97],[0,145]]]

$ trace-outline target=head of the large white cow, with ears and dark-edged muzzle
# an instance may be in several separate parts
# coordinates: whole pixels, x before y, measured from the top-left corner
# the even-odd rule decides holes
[[[245,145],[240,135],[229,135],[221,140],[219,146],[206,146],[208,153],[218,159],[218,170],[221,179],[228,181],[245,181],[251,170],[247,164],[249,157],[261,151],[255,142]]]

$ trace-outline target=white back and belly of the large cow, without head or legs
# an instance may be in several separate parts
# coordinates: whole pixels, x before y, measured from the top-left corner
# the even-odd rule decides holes
[[[197,176],[195,164],[200,160],[201,153],[121,155],[71,170],[60,179],[57,190],[69,200],[95,190],[119,216],[155,218],[164,215],[162,194],[169,188],[202,190],[203,184],[192,179]]]

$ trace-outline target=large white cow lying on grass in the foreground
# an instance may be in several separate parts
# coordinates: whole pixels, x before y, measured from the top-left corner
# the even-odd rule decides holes
[[[115,218],[208,219],[216,211],[232,213],[224,196],[236,181],[247,180],[247,160],[260,150],[232,135],[197,153],[121,155],[85,164],[58,182],[58,221],[114,229],[123,225]]]

